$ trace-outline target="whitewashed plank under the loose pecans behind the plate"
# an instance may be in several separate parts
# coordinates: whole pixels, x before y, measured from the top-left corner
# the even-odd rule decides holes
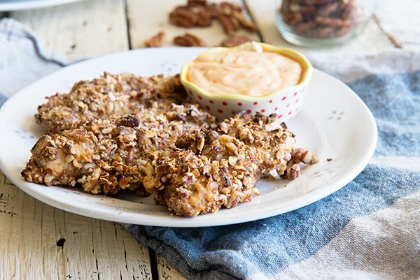
[[[240,0],[232,0],[232,2],[241,3]],[[144,40],[157,34],[159,31],[165,31],[164,45],[166,46],[173,45],[172,40],[174,37],[186,32],[199,36],[209,46],[220,45],[223,40],[228,38],[223,32],[221,24],[216,21],[211,24],[211,27],[204,28],[186,29],[171,24],[169,22],[169,13],[175,6],[185,3],[186,0],[173,0],[170,2],[165,0],[127,0],[127,16],[132,48],[144,47]],[[255,32],[250,33],[241,30],[238,34],[244,34],[259,40]]]

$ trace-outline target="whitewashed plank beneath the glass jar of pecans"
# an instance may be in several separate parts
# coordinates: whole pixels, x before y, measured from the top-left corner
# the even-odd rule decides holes
[[[284,40],[276,28],[276,0],[245,0],[255,23],[260,29],[262,39],[269,44],[281,47],[293,47],[303,53],[325,52],[325,48],[297,47]],[[329,47],[328,52],[340,53],[372,53],[393,50],[394,45],[379,29],[374,21],[370,21],[365,30],[355,40],[337,47]]]

